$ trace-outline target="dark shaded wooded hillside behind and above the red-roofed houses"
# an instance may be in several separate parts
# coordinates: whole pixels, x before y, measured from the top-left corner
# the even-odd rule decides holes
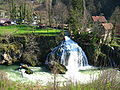
[[[92,15],[104,14],[107,19],[110,19],[116,7],[120,7],[120,0],[86,0],[86,3]]]

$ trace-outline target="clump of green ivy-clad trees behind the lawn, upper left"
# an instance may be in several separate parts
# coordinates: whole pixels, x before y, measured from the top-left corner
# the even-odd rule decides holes
[[[22,24],[23,21],[28,24],[32,22],[33,6],[31,2],[26,0],[8,0],[7,5],[10,19],[13,21],[18,20],[19,24]]]

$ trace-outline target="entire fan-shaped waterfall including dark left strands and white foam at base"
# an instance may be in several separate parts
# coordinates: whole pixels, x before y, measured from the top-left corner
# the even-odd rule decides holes
[[[57,62],[66,67],[66,75],[71,78],[77,77],[79,70],[91,67],[82,48],[68,36],[65,36],[65,40],[48,54],[46,64],[53,60],[49,59],[52,55],[57,56]]]

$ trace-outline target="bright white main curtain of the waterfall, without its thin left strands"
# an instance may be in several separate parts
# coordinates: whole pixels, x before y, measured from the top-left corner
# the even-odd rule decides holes
[[[65,41],[61,44],[61,64],[69,70],[79,70],[88,66],[87,57],[82,48],[68,36],[65,36]]]

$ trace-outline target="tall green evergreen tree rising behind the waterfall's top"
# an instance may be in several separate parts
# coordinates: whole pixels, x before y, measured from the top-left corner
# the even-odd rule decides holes
[[[73,34],[77,34],[82,28],[83,20],[83,0],[72,0],[72,9],[70,9],[70,30]]]

